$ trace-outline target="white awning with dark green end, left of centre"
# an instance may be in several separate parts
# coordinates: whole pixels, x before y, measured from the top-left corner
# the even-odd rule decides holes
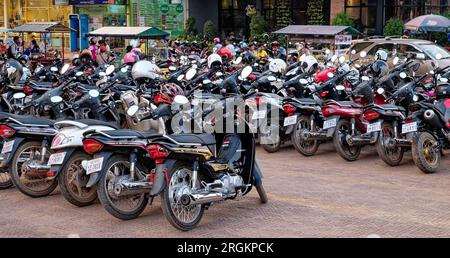
[[[89,35],[128,39],[163,39],[170,36],[170,33],[154,27],[103,27],[90,32]]]

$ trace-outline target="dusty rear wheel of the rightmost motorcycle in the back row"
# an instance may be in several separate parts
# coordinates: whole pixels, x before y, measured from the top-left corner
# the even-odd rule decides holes
[[[418,133],[412,144],[412,156],[416,166],[425,174],[435,173],[441,163],[441,152],[432,151],[429,146],[436,143],[434,136],[428,132]]]

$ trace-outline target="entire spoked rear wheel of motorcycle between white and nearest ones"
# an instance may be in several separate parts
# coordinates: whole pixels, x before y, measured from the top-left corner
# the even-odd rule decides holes
[[[144,169],[136,164],[137,180],[144,179]],[[116,155],[110,158],[101,171],[97,194],[103,207],[114,217],[121,220],[137,218],[148,203],[148,194],[130,194],[118,196],[116,183],[130,178],[130,161],[128,156]]]

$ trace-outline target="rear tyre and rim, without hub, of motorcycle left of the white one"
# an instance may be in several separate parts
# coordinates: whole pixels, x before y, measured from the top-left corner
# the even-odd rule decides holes
[[[48,196],[58,186],[58,180],[56,179],[48,180],[46,176],[43,178],[30,179],[26,178],[22,173],[22,165],[25,161],[41,159],[41,148],[42,142],[25,142],[20,145],[13,154],[14,157],[10,167],[10,176],[14,185],[23,194],[33,198]],[[46,161],[48,161],[50,154],[51,153],[47,150],[47,153],[45,154]]]

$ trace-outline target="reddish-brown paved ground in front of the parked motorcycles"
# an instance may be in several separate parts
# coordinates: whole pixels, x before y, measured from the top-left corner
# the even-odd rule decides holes
[[[0,192],[0,237],[449,237],[450,158],[425,175],[408,153],[387,167],[371,148],[347,163],[332,146],[304,158],[292,148],[259,150],[270,203],[256,193],[215,206],[199,227],[183,233],[165,220],[159,200],[133,221],[119,221],[100,204],[75,208],[55,192],[31,199]]]

